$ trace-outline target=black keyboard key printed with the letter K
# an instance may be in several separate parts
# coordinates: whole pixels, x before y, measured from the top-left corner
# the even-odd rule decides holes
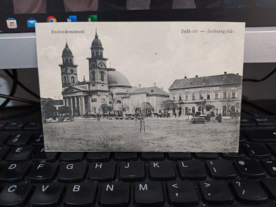
[[[172,161],[150,161],[149,174],[152,180],[175,179],[175,168]]]

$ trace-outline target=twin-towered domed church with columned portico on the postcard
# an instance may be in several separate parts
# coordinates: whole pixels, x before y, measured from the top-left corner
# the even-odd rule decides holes
[[[66,41],[62,52],[61,81],[63,106],[69,106],[72,115],[94,115],[103,113],[101,107],[104,103],[112,106],[112,112],[119,112],[122,106],[122,97],[130,95],[132,86],[127,77],[115,68],[106,67],[103,57],[101,40],[95,33],[91,43],[91,57],[89,63],[89,81],[77,78],[77,65],[74,56]]]

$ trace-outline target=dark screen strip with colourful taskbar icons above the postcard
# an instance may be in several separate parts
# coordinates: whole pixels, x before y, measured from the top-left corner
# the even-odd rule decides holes
[[[0,31],[34,32],[36,22],[244,21],[276,26],[275,0],[1,0]]]

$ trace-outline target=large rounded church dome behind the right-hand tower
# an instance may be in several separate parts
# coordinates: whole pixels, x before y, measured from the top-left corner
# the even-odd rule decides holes
[[[121,72],[115,69],[108,70],[108,85],[109,86],[126,86],[131,87],[130,82]]]

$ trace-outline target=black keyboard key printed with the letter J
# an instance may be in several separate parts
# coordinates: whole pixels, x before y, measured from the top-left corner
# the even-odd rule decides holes
[[[121,162],[119,170],[121,181],[143,181],[145,179],[145,166],[143,161]]]

